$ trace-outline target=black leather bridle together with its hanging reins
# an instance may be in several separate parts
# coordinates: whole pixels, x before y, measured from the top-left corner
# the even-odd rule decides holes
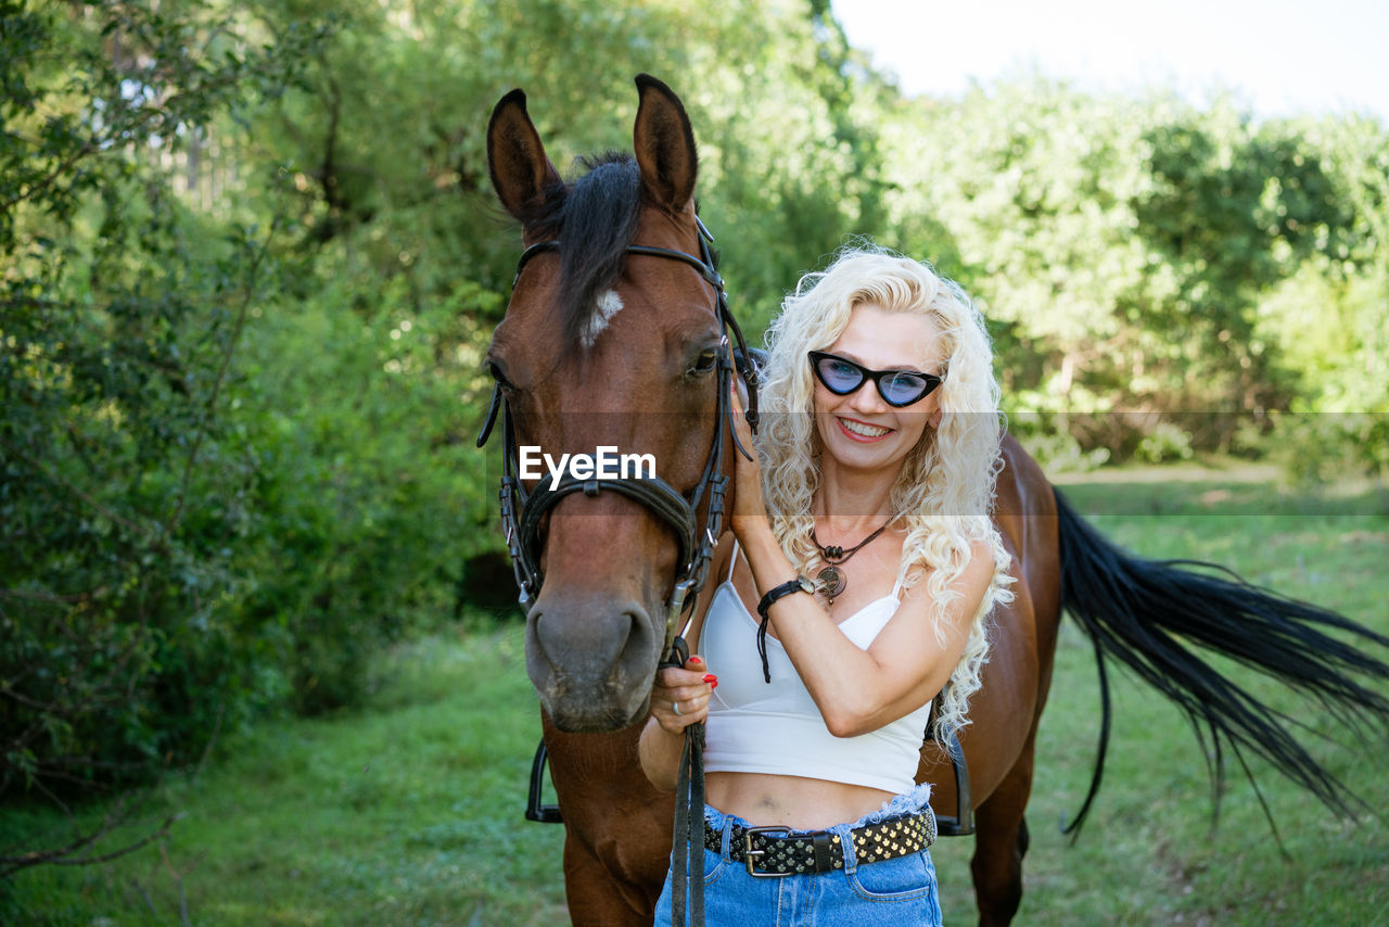
[[[715,315],[724,329],[724,338],[718,346],[718,375],[717,375],[717,428],[708,459],[704,461],[704,471],[699,482],[689,493],[682,493],[669,482],[656,474],[642,474],[640,470],[631,477],[621,478],[578,478],[565,473],[558,482],[540,479],[529,492],[522,485],[517,471],[515,428],[511,413],[507,409],[501,384],[492,389],[492,404],[488,409],[488,418],[478,435],[478,446],[482,448],[496,425],[497,413],[503,417],[503,448],[501,448],[501,527],[507,539],[507,550],[511,555],[511,567],[515,573],[517,586],[521,589],[521,605],[526,606],[540,595],[544,574],[540,570],[540,524],[547,511],[554,509],[561,499],[575,492],[586,496],[596,496],[600,492],[621,493],[661,518],[674,532],[679,542],[681,564],[675,584],[671,588],[671,598],[665,603],[665,641],[661,653],[667,655],[660,666],[685,666],[689,649],[679,637],[681,616],[693,609],[694,600],[708,575],[708,563],[718,543],[724,527],[724,496],[728,489],[728,477],[724,475],[724,456],[728,436],[732,436],[733,446],[749,460],[751,452],[738,441],[738,432],[729,421],[732,416],[732,388],[733,370],[742,375],[747,385],[747,424],[757,431],[757,367],[747,350],[743,332],[728,309],[728,296],[724,290],[724,278],[714,268],[714,259],[708,243],[714,236],[704,228],[704,222],[694,218],[699,225],[700,254],[686,254],[667,247],[650,247],[646,245],[628,245],[626,253],[660,257],[681,261],[700,275],[715,293]],[[557,252],[560,242],[536,242],[521,253],[517,263],[517,274],[511,281],[515,289],[525,265],[536,254]],[[736,350],[731,349],[729,335],[736,343]],[[726,427],[725,427],[725,423]],[[699,510],[706,506],[704,525],[700,530]],[[704,725],[690,724],[685,728],[685,749],[681,756],[681,767],[675,789],[675,838],[672,859],[672,923],[683,924],[686,912],[686,892],[689,894],[690,923],[701,926],[704,923],[704,880],[700,877],[701,869],[692,864],[703,856],[704,846]],[[543,744],[542,744],[543,748]],[[539,756],[539,753],[538,753]],[[693,869],[693,871],[692,871]]]

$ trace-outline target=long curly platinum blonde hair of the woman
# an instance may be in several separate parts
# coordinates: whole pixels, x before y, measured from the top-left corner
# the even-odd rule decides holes
[[[810,539],[815,524],[811,496],[820,485],[824,446],[814,423],[814,381],[806,352],[833,345],[861,303],[925,315],[940,336],[940,427],[925,429],[892,488],[893,517],[907,528],[897,581],[908,589],[926,577],[938,639],[943,641],[945,612],[957,595],[949,585],[968,564],[971,543],[988,542],[993,552],[993,578],[935,719],[936,738],[943,744],[947,734],[970,723],[970,696],[979,688],[989,653],[985,618],[996,603],[1013,599],[1010,556],[989,518],[995,477],[1003,466],[999,385],[983,318],[964,290],[926,264],[871,245],[842,249],[826,270],[804,275],[767,331],[765,424],[757,442],[763,492],[782,549],[797,571],[814,575],[821,557]]]

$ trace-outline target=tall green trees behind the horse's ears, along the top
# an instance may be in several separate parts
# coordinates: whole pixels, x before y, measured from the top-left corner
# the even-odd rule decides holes
[[[264,10],[288,19],[303,7]],[[863,93],[872,85],[851,76],[838,26],[796,3],[456,0],[335,4],[333,15],[336,39],[306,61],[304,90],[257,124],[301,193],[304,254],[322,247],[381,278],[406,275],[425,300],[458,268],[504,292],[518,236],[499,222],[488,178],[492,106],[522,88],[567,174],[579,154],[631,149],[642,71],[690,113],[701,208],[754,328],[846,233],[888,232],[879,103]]]

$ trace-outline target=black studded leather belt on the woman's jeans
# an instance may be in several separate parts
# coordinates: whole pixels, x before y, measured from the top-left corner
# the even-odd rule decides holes
[[[829,873],[845,867],[845,848],[832,831],[788,832],[788,827],[739,827],[729,835],[728,855],[745,863],[750,876],[796,876]],[[936,842],[936,816],[889,817],[849,831],[854,859],[860,866],[920,853]],[[704,831],[704,846],[715,853],[724,848],[724,831]]]

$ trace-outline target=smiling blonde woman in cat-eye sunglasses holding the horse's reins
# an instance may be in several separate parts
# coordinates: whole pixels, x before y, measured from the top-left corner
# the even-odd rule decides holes
[[[938,924],[918,750],[946,682],[936,732],[967,724],[1010,595],[988,336],[929,267],[860,249],[768,342],[760,463],[738,461],[722,584],[686,634],[703,659],[658,674],[642,766],[674,789],[707,720],[710,924]],[[735,427],[747,446],[740,406]]]

